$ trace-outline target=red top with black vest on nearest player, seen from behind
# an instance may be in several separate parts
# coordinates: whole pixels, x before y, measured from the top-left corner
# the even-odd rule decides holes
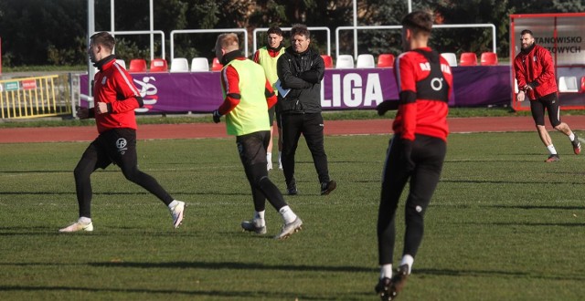
[[[451,67],[435,52],[440,67],[431,72],[432,65],[420,51],[431,55],[431,48],[424,47],[402,53],[396,60],[394,72],[400,99],[392,129],[402,139],[414,140],[415,134],[422,134],[447,140]]]

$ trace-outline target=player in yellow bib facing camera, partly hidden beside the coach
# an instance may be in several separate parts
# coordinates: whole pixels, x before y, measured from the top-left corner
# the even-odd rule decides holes
[[[283,53],[284,47],[282,46],[282,29],[279,26],[271,26],[268,29],[268,46],[258,49],[254,54],[253,60],[264,68],[266,78],[268,78],[268,80],[271,82],[272,89],[277,96],[278,91],[274,86],[278,80],[278,75],[276,74],[276,62]],[[268,143],[268,148],[266,149],[266,161],[268,161],[267,169],[269,171],[272,169],[272,132],[274,130],[273,123],[275,112],[276,126],[278,129],[278,168],[279,170],[282,170],[282,127],[279,116],[280,113],[277,109],[278,102],[275,106],[272,106],[272,108],[268,110],[271,124],[271,140]]]

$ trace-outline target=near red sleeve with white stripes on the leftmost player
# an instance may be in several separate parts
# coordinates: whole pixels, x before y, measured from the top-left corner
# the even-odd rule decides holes
[[[144,106],[140,91],[133,84],[130,74],[120,68],[114,68],[112,73],[117,91],[116,101],[108,103],[108,112],[112,114],[125,113]]]

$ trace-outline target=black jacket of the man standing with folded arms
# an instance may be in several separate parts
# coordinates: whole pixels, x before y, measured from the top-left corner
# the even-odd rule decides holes
[[[287,47],[276,66],[282,88],[291,89],[279,100],[282,114],[320,113],[321,80],[325,73],[323,57],[311,48],[296,53],[293,47]]]

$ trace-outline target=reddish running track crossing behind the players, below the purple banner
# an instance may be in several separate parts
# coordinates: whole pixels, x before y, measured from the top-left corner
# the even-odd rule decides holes
[[[209,117],[211,118],[211,117]],[[571,130],[585,130],[585,116],[563,116]],[[392,119],[325,121],[325,135],[388,134]],[[449,119],[452,133],[533,131],[530,117],[489,117]],[[548,124],[549,130],[552,128]],[[91,141],[97,136],[95,126],[58,128],[0,129],[0,143]],[[225,124],[149,124],[138,127],[139,140],[226,138]]]

